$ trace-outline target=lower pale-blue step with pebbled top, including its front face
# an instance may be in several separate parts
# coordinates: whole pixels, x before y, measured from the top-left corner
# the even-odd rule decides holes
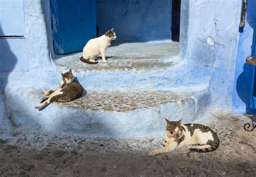
[[[26,130],[103,137],[162,134],[164,118],[193,122],[210,103],[207,85],[172,91],[87,90],[83,98],[71,103],[50,104],[39,111],[33,108],[42,98],[39,89],[26,87],[25,92],[16,95],[15,91],[9,87],[6,93],[6,106],[13,125]]]

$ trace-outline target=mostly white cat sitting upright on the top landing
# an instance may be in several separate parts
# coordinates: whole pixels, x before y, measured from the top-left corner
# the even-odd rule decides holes
[[[96,62],[95,59],[100,54],[103,62],[106,63],[105,51],[107,47],[110,46],[111,41],[116,38],[116,33],[114,32],[114,28],[112,28],[105,32],[104,35],[89,40],[84,46],[83,57],[81,57],[80,60],[88,64],[97,64],[98,62]]]

